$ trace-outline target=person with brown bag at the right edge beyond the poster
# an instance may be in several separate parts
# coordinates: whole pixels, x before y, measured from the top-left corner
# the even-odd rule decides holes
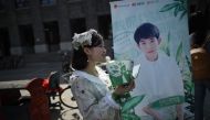
[[[203,120],[203,105],[207,89],[210,91],[210,53],[208,44],[208,17],[198,11],[190,17],[190,42],[192,79],[195,81],[195,120]]]

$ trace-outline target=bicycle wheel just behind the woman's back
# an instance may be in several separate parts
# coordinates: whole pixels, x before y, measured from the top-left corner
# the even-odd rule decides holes
[[[76,100],[74,99],[72,95],[71,86],[67,86],[66,88],[62,90],[62,92],[60,94],[60,101],[62,102],[62,105],[64,105],[67,108],[72,108],[72,109],[78,108]]]

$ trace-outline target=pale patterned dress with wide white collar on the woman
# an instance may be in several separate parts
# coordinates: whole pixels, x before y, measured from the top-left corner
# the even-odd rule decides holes
[[[96,67],[98,77],[82,70],[71,76],[72,94],[83,120],[120,120],[119,106],[112,99],[108,75]]]

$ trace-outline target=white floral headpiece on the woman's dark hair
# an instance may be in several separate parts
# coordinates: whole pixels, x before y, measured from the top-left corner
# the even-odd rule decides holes
[[[92,34],[97,33],[97,31],[91,29],[86,32],[83,32],[81,34],[74,33],[74,36],[72,37],[72,46],[74,50],[78,50],[80,46],[91,45],[92,44]]]

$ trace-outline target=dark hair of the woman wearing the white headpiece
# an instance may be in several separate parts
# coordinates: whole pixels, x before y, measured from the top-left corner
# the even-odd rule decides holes
[[[84,69],[88,64],[87,55],[84,53],[84,47],[95,47],[103,43],[103,36],[94,32],[92,33],[91,45],[80,46],[77,50],[73,48],[72,66],[74,69]]]

